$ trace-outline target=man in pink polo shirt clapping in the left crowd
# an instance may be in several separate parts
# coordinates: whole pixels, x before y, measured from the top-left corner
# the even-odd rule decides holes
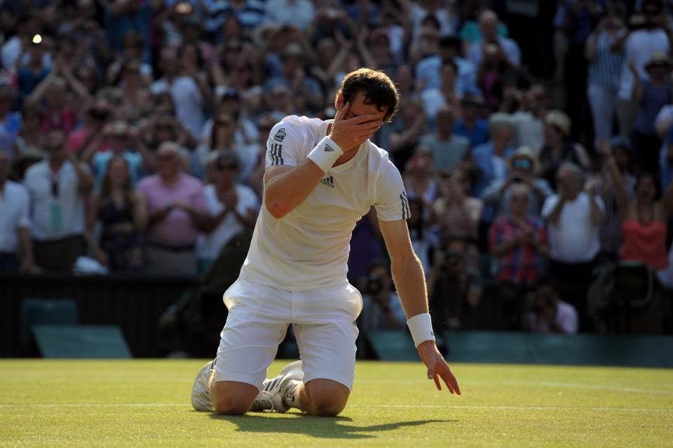
[[[164,142],[156,154],[156,174],[138,183],[146,199],[147,268],[151,274],[195,276],[196,240],[210,229],[203,182],[179,168],[180,148]]]

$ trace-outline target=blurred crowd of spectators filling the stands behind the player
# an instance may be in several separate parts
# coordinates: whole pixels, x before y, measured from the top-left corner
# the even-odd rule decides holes
[[[332,118],[374,67],[400,91],[372,140],[405,179],[437,329],[607,331],[621,300],[671,332],[672,8],[5,0],[0,272],[238,274],[223,254],[249,244],[269,131]],[[363,330],[404,327],[373,210],[349,276]]]

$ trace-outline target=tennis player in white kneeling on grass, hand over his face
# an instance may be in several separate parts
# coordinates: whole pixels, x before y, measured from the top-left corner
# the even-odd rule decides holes
[[[349,241],[372,205],[428,378],[437,388],[441,378],[451,393],[460,393],[435,346],[402,176],[388,153],[369,141],[396,106],[388,76],[358,69],[341,85],[334,121],[287,116],[269,133],[264,204],[240,276],[224,294],[229,316],[217,358],[196,377],[195,409],[244,414],[297,407],[321,416],[344,409],[362,309],[360,293],[346,278]],[[301,365],[292,363],[266,380],[290,324]]]

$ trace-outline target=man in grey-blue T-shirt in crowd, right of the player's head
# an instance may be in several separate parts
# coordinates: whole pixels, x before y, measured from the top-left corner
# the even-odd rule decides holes
[[[437,131],[423,135],[419,140],[419,147],[430,149],[435,169],[438,171],[449,171],[455,165],[470,157],[470,140],[454,133],[455,123],[456,113],[454,108],[444,104],[437,110],[435,118]]]

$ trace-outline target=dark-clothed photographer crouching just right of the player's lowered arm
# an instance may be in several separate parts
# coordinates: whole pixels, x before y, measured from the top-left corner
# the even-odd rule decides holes
[[[458,330],[469,320],[470,311],[481,301],[482,284],[478,271],[468,267],[468,245],[449,238],[435,252],[428,276],[428,304],[435,332]]]

